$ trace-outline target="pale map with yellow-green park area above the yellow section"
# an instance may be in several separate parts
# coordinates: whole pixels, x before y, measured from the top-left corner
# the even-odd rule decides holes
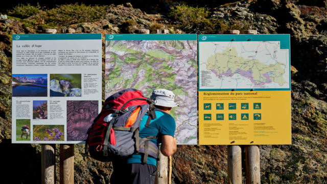
[[[199,42],[200,89],[290,88],[289,50],[279,41]]]

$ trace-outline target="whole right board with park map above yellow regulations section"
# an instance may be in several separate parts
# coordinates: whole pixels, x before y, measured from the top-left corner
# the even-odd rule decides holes
[[[198,35],[199,144],[291,144],[290,35]]]

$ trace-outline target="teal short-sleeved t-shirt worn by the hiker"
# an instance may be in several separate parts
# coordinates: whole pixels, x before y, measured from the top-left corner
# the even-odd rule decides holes
[[[145,124],[148,120],[148,114],[146,114],[139,125],[139,137],[144,138],[147,136],[157,136],[161,135],[171,135],[174,137],[176,124],[175,120],[170,114],[162,111],[155,111],[156,119],[151,120],[149,127],[145,127]],[[156,139],[150,140],[158,146]],[[127,164],[131,163],[142,163],[141,154],[133,154],[130,158],[127,159]],[[157,160],[151,156],[148,157],[147,164],[157,166]]]

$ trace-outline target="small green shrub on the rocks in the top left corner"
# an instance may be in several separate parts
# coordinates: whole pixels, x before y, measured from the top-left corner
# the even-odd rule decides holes
[[[19,4],[16,7],[14,7],[12,10],[9,10],[7,14],[18,18],[27,18],[32,15],[38,14],[41,11],[42,10],[39,4],[37,4],[36,6],[32,6],[30,4],[27,5]]]

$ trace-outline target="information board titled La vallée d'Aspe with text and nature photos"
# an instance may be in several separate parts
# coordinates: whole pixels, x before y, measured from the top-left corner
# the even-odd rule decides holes
[[[12,35],[12,143],[85,143],[101,110],[101,37]]]

